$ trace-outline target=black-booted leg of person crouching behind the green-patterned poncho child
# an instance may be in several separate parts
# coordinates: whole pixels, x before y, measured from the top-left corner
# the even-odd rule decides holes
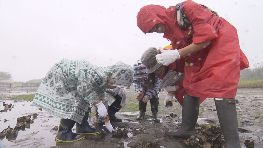
[[[116,112],[119,112],[120,111],[120,108],[121,108],[121,99],[122,97],[120,97],[118,94],[116,96],[114,96],[114,98],[116,99],[112,104],[111,106],[108,106],[108,114],[109,114],[109,119],[111,121],[114,121],[114,122],[122,122],[122,119],[120,118],[117,118],[115,116]]]

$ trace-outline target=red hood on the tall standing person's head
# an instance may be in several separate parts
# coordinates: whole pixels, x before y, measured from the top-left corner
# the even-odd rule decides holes
[[[137,26],[143,33],[148,33],[155,24],[165,24],[166,33],[170,32],[174,25],[174,20],[170,19],[174,16],[174,7],[166,9],[159,5],[147,5],[140,9],[137,15]],[[165,33],[165,34],[166,34]]]

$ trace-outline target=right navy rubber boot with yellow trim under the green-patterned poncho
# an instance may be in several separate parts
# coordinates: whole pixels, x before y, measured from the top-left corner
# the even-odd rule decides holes
[[[81,124],[76,123],[76,133],[77,134],[89,134],[89,135],[99,135],[101,133],[100,129],[93,129],[89,124],[88,124],[88,114],[90,110],[85,112],[85,115],[82,119]]]

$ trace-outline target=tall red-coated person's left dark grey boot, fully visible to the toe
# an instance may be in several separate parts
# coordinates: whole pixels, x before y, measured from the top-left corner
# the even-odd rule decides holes
[[[168,132],[165,134],[172,138],[189,138],[195,135],[195,124],[199,113],[199,97],[192,97],[184,94],[182,124],[176,132]]]

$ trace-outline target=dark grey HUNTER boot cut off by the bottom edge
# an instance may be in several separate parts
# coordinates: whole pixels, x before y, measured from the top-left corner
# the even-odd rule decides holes
[[[240,147],[235,99],[217,99],[215,100],[215,107],[220,127],[224,135],[225,148]]]

